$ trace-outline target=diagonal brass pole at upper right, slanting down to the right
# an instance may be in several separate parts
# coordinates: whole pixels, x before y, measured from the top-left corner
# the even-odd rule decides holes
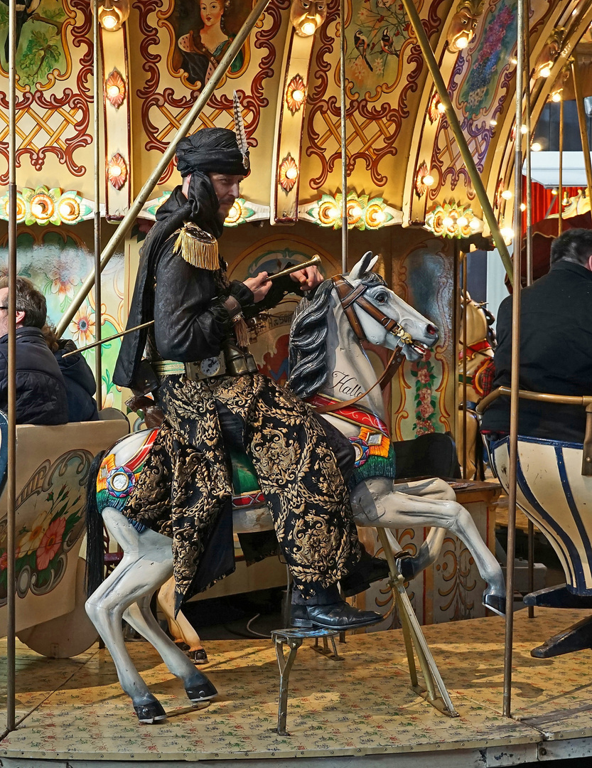
[[[448,124],[451,127],[452,133],[455,134],[456,143],[458,144],[458,151],[461,153],[462,160],[465,163],[469,178],[471,179],[471,184],[475,189],[475,194],[477,195],[479,204],[483,209],[483,215],[485,216],[485,220],[487,220],[489,229],[491,230],[491,235],[493,236],[495,247],[498,249],[501,261],[503,262],[505,270],[508,273],[508,279],[510,282],[512,282],[514,279],[512,273],[512,260],[510,258],[510,253],[508,252],[508,247],[506,246],[504,238],[501,237],[498,220],[495,218],[493,207],[491,207],[491,202],[488,199],[487,191],[485,190],[483,181],[481,180],[481,175],[477,170],[477,166],[473,160],[471,150],[468,148],[465,134],[462,132],[461,124],[458,121],[455,109],[452,106],[450,96],[448,95],[448,88],[446,88],[444,78],[442,78],[442,73],[438,68],[438,62],[436,61],[434,51],[432,51],[432,47],[430,46],[428,35],[425,33],[422,20],[419,18],[419,14],[417,12],[417,8],[415,8],[413,0],[402,0],[402,4],[405,8],[405,13],[407,14],[409,22],[411,22],[413,31],[415,32],[415,37],[417,38],[419,48],[422,51],[423,58],[425,58],[425,61],[428,65],[428,70],[432,75],[432,80],[434,81],[436,91],[438,91],[438,97],[440,98],[440,101],[442,101],[442,104],[444,104]]]

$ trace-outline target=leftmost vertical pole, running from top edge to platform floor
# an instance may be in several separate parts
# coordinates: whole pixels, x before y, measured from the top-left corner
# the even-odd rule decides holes
[[[6,468],[6,727],[16,697],[16,0],[8,3],[8,467]]]

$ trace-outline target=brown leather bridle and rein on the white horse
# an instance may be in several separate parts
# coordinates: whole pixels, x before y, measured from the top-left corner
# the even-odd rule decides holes
[[[336,275],[335,277],[332,277],[331,280],[336,288],[339,301],[341,302],[343,311],[346,313],[349,324],[352,326],[353,332],[356,334],[360,341],[367,342],[368,339],[366,339],[362,325],[360,324],[358,316],[356,315],[356,311],[353,308],[354,304],[357,304],[360,309],[364,310],[372,318],[377,320],[383,328],[389,331],[389,333],[392,333],[394,336],[397,336],[399,339],[401,339],[403,344],[413,343],[411,336],[409,336],[409,334],[403,330],[401,326],[399,326],[399,323],[397,323],[391,317],[386,316],[385,313],[381,312],[374,306],[374,304],[370,303],[369,300],[365,298],[363,294],[366,290],[368,290],[368,286],[359,283],[356,288],[354,288],[352,284],[348,283],[348,281],[342,275]],[[399,367],[404,360],[405,354],[403,353],[402,346],[395,347],[395,349],[393,349],[392,355],[390,356],[389,362],[387,362],[385,366],[384,371],[382,371],[379,379],[377,379],[369,389],[366,389],[366,391],[362,392],[361,395],[354,397],[351,400],[337,400],[336,402],[331,402],[326,406],[318,406],[315,408],[315,411],[317,413],[331,413],[333,411],[339,411],[342,408],[349,408],[349,406],[353,406],[356,404],[356,402],[359,402],[359,400],[365,398],[365,396],[368,395],[369,392],[372,392],[372,389],[374,389],[378,384],[380,384],[380,388],[382,391],[384,391],[392,377],[395,376],[395,373],[399,370]]]

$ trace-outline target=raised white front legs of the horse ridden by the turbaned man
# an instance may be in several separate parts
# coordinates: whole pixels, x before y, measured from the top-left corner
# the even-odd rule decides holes
[[[393,491],[392,488],[392,481],[386,478],[367,480],[356,486],[351,498],[358,525],[369,525],[375,528],[430,526],[451,531],[465,543],[475,560],[481,578],[488,584],[483,595],[484,604],[495,613],[503,614],[505,611],[504,576],[500,564],[481,538],[470,513],[455,501],[425,498],[422,493],[412,495],[409,492]],[[418,564],[435,559],[435,554],[439,551],[438,544],[442,546],[442,539],[442,534],[432,535],[426,542]],[[416,570],[414,566],[413,571],[413,575],[416,575],[419,569]]]

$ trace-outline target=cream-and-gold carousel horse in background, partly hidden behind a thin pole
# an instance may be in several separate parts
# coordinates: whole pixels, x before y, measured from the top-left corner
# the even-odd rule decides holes
[[[463,386],[463,323],[467,318],[467,394]],[[479,438],[479,422],[475,406],[482,397],[491,391],[493,381],[493,356],[495,334],[491,327],[494,316],[485,308],[485,303],[477,303],[465,292],[461,298],[461,333],[458,341],[458,420],[456,430],[456,449],[458,462],[463,463],[463,445],[465,442],[463,411],[467,410],[467,478],[485,479],[483,469],[483,447]]]

